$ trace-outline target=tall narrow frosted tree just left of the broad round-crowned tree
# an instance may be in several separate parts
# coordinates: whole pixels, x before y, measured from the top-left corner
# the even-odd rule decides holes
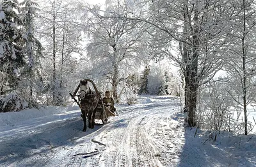
[[[71,10],[70,10],[71,7]],[[63,5],[62,14],[60,15],[60,29],[61,29],[61,45],[60,45],[60,66],[59,66],[59,80],[61,95],[64,100],[68,100],[67,92],[72,91],[73,85],[71,78],[76,79],[76,65],[79,63],[76,56],[83,55],[83,27],[77,24],[76,4],[67,3]],[[72,10],[73,9],[73,10]],[[71,23],[70,23],[71,22]],[[76,56],[74,56],[76,55]],[[81,62],[80,62],[81,63]],[[84,63],[81,63],[83,67]],[[84,76],[82,77],[84,78]],[[81,79],[81,77],[79,78]]]

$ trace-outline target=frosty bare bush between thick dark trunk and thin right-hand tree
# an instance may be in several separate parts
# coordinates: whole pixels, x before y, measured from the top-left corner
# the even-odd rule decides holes
[[[212,83],[204,88],[200,96],[199,124],[209,130],[234,130],[232,106],[234,102],[223,83]]]

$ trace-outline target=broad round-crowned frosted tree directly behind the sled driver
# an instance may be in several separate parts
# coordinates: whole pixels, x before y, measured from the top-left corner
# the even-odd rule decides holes
[[[119,83],[127,78],[122,76],[124,69],[137,67],[136,63],[140,63],[138,55],[143,54],[140,44],[143,27],[131,20],[118,19],[120,15],[129,15],[125,6],[120,1],[108,1],[104,13],[100,12],[99,6],[84,7],[89,13],[85,25],[90,37],[88,56],[97,76],[110,81],[115,100],[118,100]]]

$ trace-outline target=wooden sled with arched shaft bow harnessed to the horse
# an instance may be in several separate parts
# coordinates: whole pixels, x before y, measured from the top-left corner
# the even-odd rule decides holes
[[[99,102],[98,102],[98,105],[97,105],[97,108],[96,108],[96,111],[95,111],[95,120],[96,119],[97,120],[102,120],[102,123],[106,123],[106,122],[108,122],[110,116],[116,116],[116,114],[113,113],[112,111],[110,111],[108,109],[108,107],[104,106],[103,100],[101,98],[101,95],[100,95],[99,91],[97,90],[97,88],[96,88],[95,84],[93,83],[93,81],[90,80],[90,79],[83,79],[83,81],[88,81],[88,82],[92,83],[93,88],[95,90],[95,92],[93,92],[93,93],[96,93],[99,96]],[[76,93],[79,90],[79,88],[80,88],[80,84],[77,86],[77,88],[74,91],[73,95],[72,95],[72,93],[69,93],[69,94],[70,94],[71,98],[74,99],[74,101],[77,103],[77,105],[81,109],[80,97],[79,97],[79,95],[76,95]],[[77,99],[76,99],[76,97],[77,97]]]

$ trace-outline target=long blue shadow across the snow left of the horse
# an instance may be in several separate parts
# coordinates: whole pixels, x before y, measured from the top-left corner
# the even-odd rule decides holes
[[[47,154],[53,148],[74,145],[74,141],[77,139],[88,136],[102,127],[102,124],[97,123],[94,129],[87,129],[86,132],[82,132],[83,119],[77,116],[77,113],[70,115],[70,118],[67,120],[48,122],[45,125],[49,128],[45,129],[42,126],[42,131],[28,132],[28,134],[23,132],[22,135],[24,136],[5,139],[1,142],[0,166],[6,162],[8,164],[19,162],[22,159],[35,155],[35,152],[36,154]],[[38,128],[36,129],[38,130]]]

